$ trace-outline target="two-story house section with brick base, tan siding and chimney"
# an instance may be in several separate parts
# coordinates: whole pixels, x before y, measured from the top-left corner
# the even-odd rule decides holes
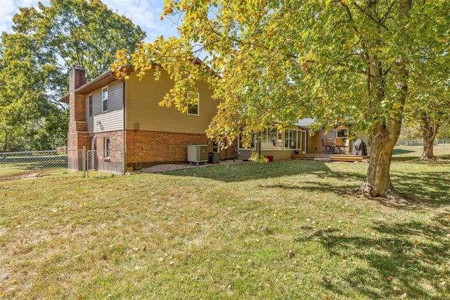
[[[159,80],[154,79],[154,70],[141,80],[131,70],[129,80],[118,80],[109,71],[86,82],[85,71],[73,68],[69,94],[60,99],[70,106],[68,149],[98,151],[101,170],[122,160],[113,157],[113,151],[123,151],[124,164],[134,168],[186,162],[191,144],[207,145],[207,151],[220,158],[235,158],[236,146],[220,149],[205,134],[218,106],[207,83],[197,82],[197,92],[190,92],[197,104],[181,113],[159,106],[174,86],[167,72],[160,71]],[[69,151],[68,156],[69,168],[80,170],[79,151]]]

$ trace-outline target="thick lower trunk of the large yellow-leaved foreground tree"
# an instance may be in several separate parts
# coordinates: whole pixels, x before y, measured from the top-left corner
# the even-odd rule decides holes
[[[387,199],[399,199],[401,195],[394,189],[390,180],[390,163],[400,135],[401,120],[390,118],[387,125],[374,125],[371,142],[370,162],[366,182],[359,188],[363,194]]]

